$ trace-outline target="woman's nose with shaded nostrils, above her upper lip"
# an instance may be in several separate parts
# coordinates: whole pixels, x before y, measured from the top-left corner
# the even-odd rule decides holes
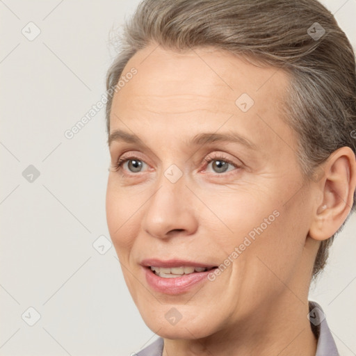
[[[192,195],[184,175],[173,183],[162,173],[141,220],[145,232],[156,238],[194,234],[197,216]]]

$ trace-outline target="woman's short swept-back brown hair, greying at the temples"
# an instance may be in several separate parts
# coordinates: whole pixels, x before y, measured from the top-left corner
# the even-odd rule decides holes
[[[313,38],[310,31],[316,22],[325,30],[319,32],[321,38]],[[144,0],[119,37],[120,52],[108,70],[107,90],[117,85],[129,59],[149,44],[175,51],[215,47],[289,76],[283,120],[296,132],[303,177],[321,179],[322,163],[340,147],[356,152],[355,54],[332,13],[316,0]],[[108,133],[112,101],[109,96]],[[321,241],[314,278],[349,217]]]

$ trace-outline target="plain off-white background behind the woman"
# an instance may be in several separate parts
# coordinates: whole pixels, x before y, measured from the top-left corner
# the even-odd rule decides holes
[[[322,2],[356,48],[356,0]],[[64,135],[105,92],[109,32],[137,4],[0,0],[0,355],[130,355],[157,337],[106,227],[104,108]],[[310,293],[345,356],[356,355],[355,228],[353,214]]]

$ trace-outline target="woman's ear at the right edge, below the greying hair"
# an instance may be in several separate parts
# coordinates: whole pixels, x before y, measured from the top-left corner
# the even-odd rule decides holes
[[[314,183],[321,194],[313,207],[309,236],[322,241],[337,232],[353,206],[356,187],[356,160],[353,150],[350,147],[341,147],[334,151],[319,168],[318,181]]]

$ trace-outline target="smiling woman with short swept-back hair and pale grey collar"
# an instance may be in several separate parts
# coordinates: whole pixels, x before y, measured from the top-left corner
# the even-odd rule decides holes
[[[355,78],[315,0],[140,4],[106,108],[138,355],[338,355],[308,291],[354,207]]]

